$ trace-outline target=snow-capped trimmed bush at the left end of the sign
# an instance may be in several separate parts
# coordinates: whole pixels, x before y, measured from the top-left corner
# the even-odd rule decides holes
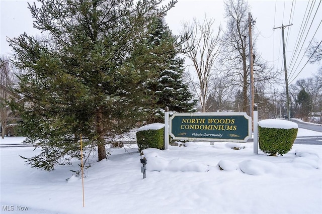
[[[136,132],[136,141],[139,152],[147,148],[165,148],[165,125],[148,124],[140,127]]]

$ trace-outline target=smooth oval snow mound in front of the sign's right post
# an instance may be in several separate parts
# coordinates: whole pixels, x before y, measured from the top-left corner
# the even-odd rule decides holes
[[[245,174],[262,175],[266,173],[276,172],[278,167],[267,161],[261,160],[245,160],[239,163],[239,168]]]

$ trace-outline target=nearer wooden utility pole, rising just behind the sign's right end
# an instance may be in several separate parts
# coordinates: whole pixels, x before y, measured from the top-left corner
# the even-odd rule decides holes
[[[251,15],[251,13],[248,13],[249,46],[250,46],[249,47],[250,48],[250,117],[253,120],[253,115],[254,115],[254,71],[253,71],[252,25],[253,25],[252,15]]]

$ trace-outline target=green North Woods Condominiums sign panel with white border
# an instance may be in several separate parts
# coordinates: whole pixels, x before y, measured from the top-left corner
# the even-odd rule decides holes
[[[176,113],[169,126],[178,140],[247,142],[252,136],[252,119],[246,113]]]

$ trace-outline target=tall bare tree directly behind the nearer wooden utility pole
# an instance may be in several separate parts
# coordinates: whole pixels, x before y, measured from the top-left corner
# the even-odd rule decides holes
[[[245,0],[226,0],[225,18],[227,28],[224,31],[224,51],[221,51],[221,66],[235,86],[241,88],[243,112],[247,112],[249,89],[249,17],[250,8]],[[278,71],[270,66],[256,53],[256,41],[253,41],[253,69],[255,85],[266,87],[276,81]],[[239,96],[238,96],[239,97]],[[239,109],[239,106],[238,106]]]

